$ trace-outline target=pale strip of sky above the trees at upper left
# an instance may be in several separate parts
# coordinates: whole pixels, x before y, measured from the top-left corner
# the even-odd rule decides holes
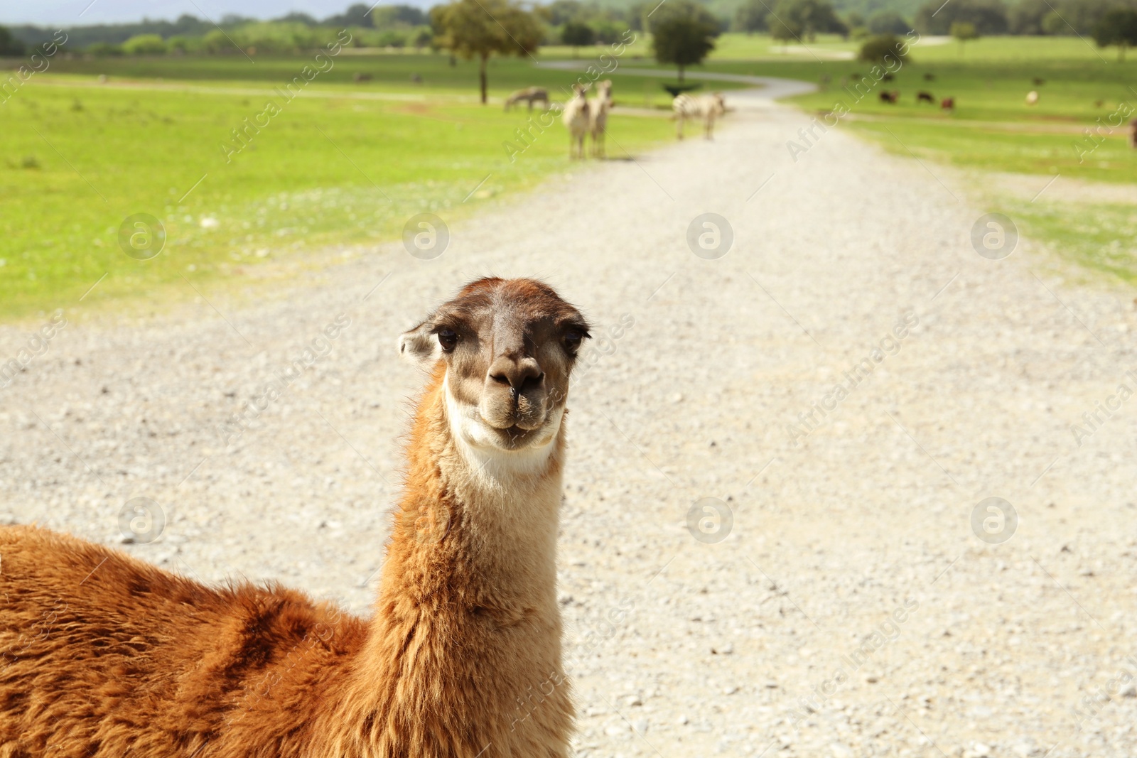
[[[86,26],[138,22],[143,17],[173,20],[182,14],[219,20],[225,14],[276,18],[293,10],[324,18],[365,0],[0,0],[0,24]],[[374,0],[371,0],[374,1]],[[401,5],[434,5],[434,0],[397,0]],[[395,3],[381,0],[382,5]]]

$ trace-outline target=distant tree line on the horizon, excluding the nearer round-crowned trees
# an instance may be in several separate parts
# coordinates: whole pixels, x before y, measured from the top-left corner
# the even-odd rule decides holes
[[[849,0],[838,0],[848,2]],[[652,24],[657,2],[639,1],[613,7],[598,0],[553,0],[547,5],[521,3],[541,27],[541,44],[587,47],[617,41],[625,30],[644,31]],[[952,25],[971,24],[977,34],[1014,35],[1094,35],[1102,36],[1104,23],[1121,20],[1118,11],[1137,11],[1137,0],[927,0],[906,17],[898,10],[880,8],[871,14],[841,11],[829,0],[740,0],[731,15],[716,14],[706,2],[696,2],[705,13],[702,24],[715,33],[725,31],[763,32],[788,42],[812,40],[816,34],[840,34],[861,39],[870,34],[946,35]],[[435,6],[440,8],[445,6]],[[690,14],[688,14],[690,15]],[[1124,24],[1121,23],[1123,27]],[[288,52],[321,47],[326,33],[321,30],[359,31],[358,47],[416,47],[431,44],[438,34],[432,11],[407,5],[375,6],[355,3],[343,13],[317,19],[291,13],[272,20],[226,15],[217,25],[191,15],[176,20],[143,19],[127,24],[99,24],[68,27],[67,48],[97,55],[160,52],[225,52],[232,41],[265,52]],[[56,27],[0,26],[0,56],[20,55],[50,40]],[[227,39],[226,38],[230,38]],[[1104,36],[1110,36],[1105,34]],[[1124,34],[1121,34],[1124,36]]]

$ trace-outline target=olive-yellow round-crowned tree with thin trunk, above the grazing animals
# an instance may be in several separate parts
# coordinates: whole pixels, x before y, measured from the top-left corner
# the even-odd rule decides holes
[[[511,0],[455,0],[431,8],[430,17],[440,48],[466,60],[478,58],[483,106],[490,56],[530,55],[545,36],[537,17]]]

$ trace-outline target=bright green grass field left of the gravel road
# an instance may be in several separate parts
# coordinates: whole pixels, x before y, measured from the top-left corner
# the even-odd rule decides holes
[[[0,106],[0,316],[74,306],[105,274],[85,303],[176,297],[168,285],[192,295],[183,276],[249,280],[304,250],[397,240],[417,213],[455,222],[571,167],[559,120],[532,130],[524,151],[506,148],[523,147],[515,130],[528,128],[529,114],[479,105],[471,64],[355,57],[288,102],[272,88],[305,63],[60,60],[33,77]],[[356,72],[373,78],[356,84]],[[534,82],[555,91],[573,78],[503,60],[491,94]],[[268,100],[281,113],[226,156],[223,143],[240,144],[231,130]],[[620,157],[672,127],[617,114],[609,128],[609,155]],[[119,225],[140,213],[166,230],[152,260],[119,249]]]

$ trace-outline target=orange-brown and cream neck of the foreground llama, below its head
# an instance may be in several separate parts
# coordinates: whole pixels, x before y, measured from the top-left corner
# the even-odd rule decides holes
[[[564,432],[543,466],[480,459],[451,430],[446,398],[439,370],[415,416],[375,613],[329,724],[329,755],[474,756],[492,743],[493,755],[563,756]],[[520,709],[549,681],[540,708]]]

